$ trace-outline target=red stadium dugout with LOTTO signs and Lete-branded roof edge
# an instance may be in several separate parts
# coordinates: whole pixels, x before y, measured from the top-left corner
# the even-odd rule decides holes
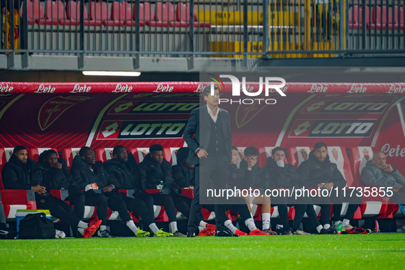
[[[25,145],[34,160],[45,149],[55,149],[70,167],[85,145],[95,149],[96,159],[102,161],[112,158],[115,145],[123,145],[141,162],[150,145],[160,144],[164,157],[176,164],[176,150],[186,146],[182,134],[188,116],[201,105],[199,95],[208,84],[1,82],[0,169],[16,145]],[[249,86],[255,91],[258,83]],[[384,224],[381,230],[394,230],[395,219],[404,215],[388,197],[366,196],[371,187],[361,184],[360,171],[373,151],[380,150],[390,164],[405,173],[405,84],[288,83],[282,88],[286,97],[271,91],[265,97],[275,100],[277,106],[251,104],[246,99],[231,104],[225,101],[232,98],[230,91],[230,84],[225,84],[224,101],[219,106],[230,112],[233,144],[241,155],[245,147],[254,146],[259,150],[258,165],[265,167],[271,149],[282,146],[287,162],[297,168],[321,140],[328,145],[330,160],[344,175],[347,188],[363,191],[354,219],[375,219]],[[5,190],[1,182],[0,188],[8,221],[15,220],[17,209],[36,209],[32,191]],[[66,191],[51,193],[66,197]],[[185,193],[193,196],[190,191]],[[260,221],[260,206],[252,210]],[[319,208],[316,210],[318,213]],[[342,214],[346,210],[343,207]],[[213,212],[203,213],[206,220],[214,218]],[[272,218],[278,217],[276,207],[271,213]],[[87,220],[95,219],[94,207],[86,206],[85,215]],[[237,213],[228,215],[238,221]],[[293,217],[294,209],[290,208],[289,219]],[[139,217],[132,218],[139,222]],[[163,207],[155,206],[155,218],[167,223]],[[182,219],[182,214],[177,218]],[[109,210],[108,220],[119,220],[119,215]]]

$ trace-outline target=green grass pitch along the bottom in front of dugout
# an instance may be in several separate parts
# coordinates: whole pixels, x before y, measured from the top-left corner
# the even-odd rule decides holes
[[[404,269],[405,234],[0,241],[0,269]]]

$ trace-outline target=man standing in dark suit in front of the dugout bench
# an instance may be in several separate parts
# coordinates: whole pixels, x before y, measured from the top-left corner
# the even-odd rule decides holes
[[[227,168],[232,158],[232,132],[229,112],[218,107],[219,91],[206,86],[202,94],[206,105],[191,111],[190,118],[184,130],[184,140],[190,152],[188,163],[195,165],[194,199],[191,203],[190,217],[188,219],[188,237],[195,236],[197,229],[197,212],[200,207],[200,179],[201,203],[206,204],[206,188],[208,185],[219,188],[226,187]],[[213,203],[213,202],[212,202]],[[217,236],[232,236],[224,222],[228,219],[225,215],[225,205],[215,204],[215,224]]]

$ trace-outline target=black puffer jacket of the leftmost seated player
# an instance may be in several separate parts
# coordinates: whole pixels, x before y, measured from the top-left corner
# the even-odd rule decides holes
[[[32,186],[42,184],[40,164],[31,158],[24,164],[15,155],[5,163],[1,177],[6,189],[32,189]]]

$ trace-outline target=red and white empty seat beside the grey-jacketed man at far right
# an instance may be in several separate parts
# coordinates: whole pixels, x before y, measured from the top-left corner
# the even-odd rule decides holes
[[[373,158],[373,149],[371,147],[352,147],[350,149],[349,160],[353,169],[353,186],[363,187],[360,177],[361,171],[371,158]],[[392,218],[393,210],[391,212],[387,210],[388,204],[388,197],[363,197],[360,211],[364,217]]]

